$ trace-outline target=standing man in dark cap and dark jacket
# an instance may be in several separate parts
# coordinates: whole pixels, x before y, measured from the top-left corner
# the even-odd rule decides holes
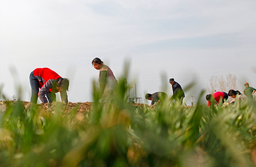
[[[185,97],[185,94],[184,94],[180,84],[178,82],[175,82],[173,78],[171,78],[169,80],[169,83],[172,85],[172,92],[173,92],[171,100],[174,99],[175,102],[177,102],[177,100],[180,99],[181,102],[183,102],[183,98]]]

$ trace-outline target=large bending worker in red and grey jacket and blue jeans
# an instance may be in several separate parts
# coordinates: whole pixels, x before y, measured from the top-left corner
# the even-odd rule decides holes
[[[45,104],[47,104],[48,101],[52,103],[53,101],[56,101],[55,93],[60,92],[61,101],[68,103],[68,78],[62,78],[49,68],[37,68],[30,73],[29,79],[31,86],[30,102],[37,103],[39,97]]]

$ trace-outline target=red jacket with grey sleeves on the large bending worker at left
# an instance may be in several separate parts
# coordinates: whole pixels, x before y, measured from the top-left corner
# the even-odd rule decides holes
[[[59,92],[56,89],[58,79],[61,78],[56,72],[49,68],[37,68],[33,72],[34,77],[38,80],[40,91],[38,97],[43,103],[48,102],[45,97],[46,92]],[[61,91],[61,100],[68,103],[68,96],[66,91]]]

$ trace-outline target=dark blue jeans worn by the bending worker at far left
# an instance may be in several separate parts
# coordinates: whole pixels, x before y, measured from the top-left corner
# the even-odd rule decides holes
[[[33,73],[34,73],[34,71],[32,71],[29,76],[30,86],[31,86],[30,102],[37,103],[38,93],[39,93],[39,83],[38,83],[38,80],[36,79],[36,77],[34,77]],[[46,97],[47,97],[49,103],[56,101],[56,94],[53,92],[48,91],[46,93]]]

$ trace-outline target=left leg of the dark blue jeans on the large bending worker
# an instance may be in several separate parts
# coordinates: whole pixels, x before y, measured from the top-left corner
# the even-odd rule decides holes
[[[38,92],[39,92],[39,83],[38,83],[38,80],[34,77],[33,72],[34,71],[32,71],[29,76],[30,86],[31,86],[30,102],[37,103]]]

